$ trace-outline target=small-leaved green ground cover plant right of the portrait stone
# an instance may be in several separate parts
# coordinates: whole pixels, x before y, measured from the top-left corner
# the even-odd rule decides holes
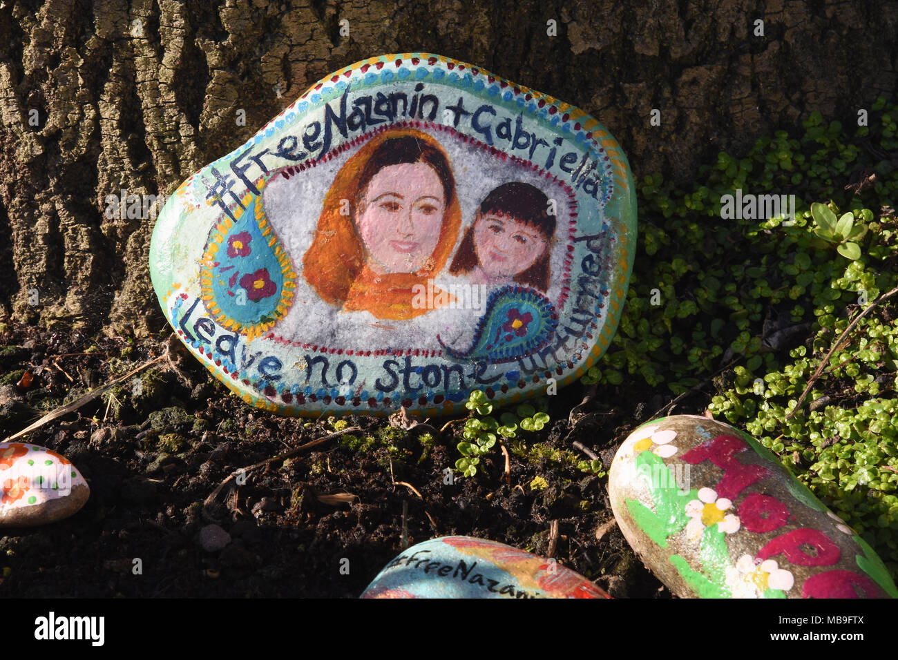
[[[869,126],[814,112],[803,136],[780,130],[744,158],[721,153],[689,191],[642,177],[627,305],[582,382],[605,400],[619,385],[704,397],[895,574],[898,297],[886,296],[898,286],[898,107],[880,98],[869,110]],[[736,189],[795,195],[795,217],[724,219],[721,198]]]

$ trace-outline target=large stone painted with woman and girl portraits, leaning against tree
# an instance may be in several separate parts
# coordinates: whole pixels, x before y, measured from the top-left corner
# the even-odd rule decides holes
[[[441,415],[570,383],[612,339],[636,241],[621,146],[447,57],[314,84],[181,184],[150,248],[180,339],[285,415]]]

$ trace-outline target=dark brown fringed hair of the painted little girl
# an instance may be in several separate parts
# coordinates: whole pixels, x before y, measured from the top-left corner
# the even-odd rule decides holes
[[[493,189],[480,203],[478,219],[489,214],[511,217],[523,222],[545,237],[546,249],[533,266],[515,275],[515,282],[533,286],[542,292],[549,290],[550,244],[555,235],[555,216],[549,214],[549,198],[535,186],[523,181],[503,183]],[[455,253],[449,272],[453,275],[470,273],[478,265],[477,249],[474,245],[475,221],[465,230],[462,242]]]

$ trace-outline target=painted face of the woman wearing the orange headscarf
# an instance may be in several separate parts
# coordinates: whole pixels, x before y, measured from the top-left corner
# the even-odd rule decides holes
[[[443,184],[426,163],[390,165],[374,174],[357,218],[369,266],[379,273],[413,273],[436,250],[445,212]]]

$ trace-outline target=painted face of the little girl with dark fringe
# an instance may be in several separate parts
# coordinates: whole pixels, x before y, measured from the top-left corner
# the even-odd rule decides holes
[[[474,224],[480,268],[489,277],[514,277],[533,266],[548,241],[539,231],[513,217],[488,214]]]

